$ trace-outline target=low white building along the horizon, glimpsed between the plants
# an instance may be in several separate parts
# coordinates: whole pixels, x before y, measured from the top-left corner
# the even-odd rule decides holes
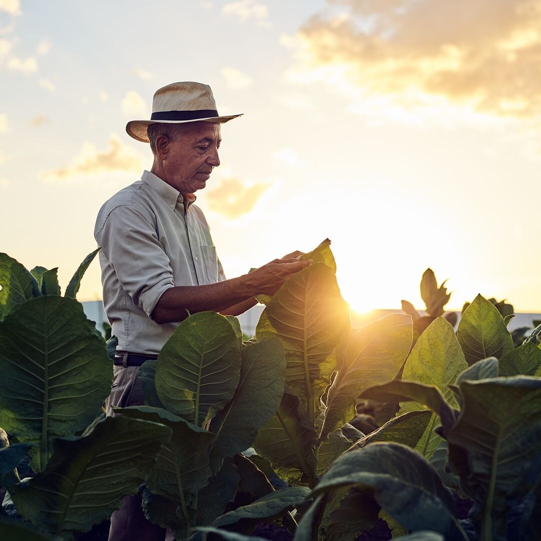
[[[96,328],[98,331],[103,333],[103,324],[107,321],[107,316],[103,309],[102,301],[88,301],[82,302],[83,310],[88,319],[96,322]],[[258,324],[259,316],[263,311],[265,306],[256,305],[250,308],[247,312],[239,316],[240,325],[242,327],[242,332],[247,334],[249,337],[252,337],[255,333],[255,326]],[[386,315],[395,314],[401,312],[399,308],[395,310],[372,310],[366,314],[351,314],[351,324],[352,327],[362,327],[371,321],[376,319],[384,318]],[[421,314],[424,314],[420,311]],[[458,319],[460,320],[460,312],[457,311]],[[514,318],[511,320],[507,328],[510,331],[518,329],[520,327],[530,327],[533,328],[533,320],[541,319],[541,314],[515,314]]]

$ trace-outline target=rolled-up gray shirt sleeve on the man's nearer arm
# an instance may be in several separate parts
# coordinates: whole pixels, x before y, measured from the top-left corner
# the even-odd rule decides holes
[[[118,206],[105,216],[95,236],[121,287],[150,317],[163,293],[175,285],[151,217],[134,207]]]

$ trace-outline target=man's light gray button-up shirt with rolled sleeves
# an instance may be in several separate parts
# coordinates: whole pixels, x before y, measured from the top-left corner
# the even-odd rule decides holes
[[[178,325],[150,319],[164,291],[226,279],[201,210],[149,171],[103,204],[94,236],[118,351],[158,354]]]

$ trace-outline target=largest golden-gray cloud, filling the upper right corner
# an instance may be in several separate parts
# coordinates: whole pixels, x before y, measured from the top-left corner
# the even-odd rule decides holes
[[[541,114],[541,0],[327,0],[296,38],[297,81],[405,108]]]

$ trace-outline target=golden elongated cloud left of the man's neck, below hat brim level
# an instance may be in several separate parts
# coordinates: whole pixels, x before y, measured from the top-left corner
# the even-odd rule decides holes
[[[111,171],[137,173],[141,168],[141,157],[136,151],[124,144],[118,135],[111,134],[107,150],[98,150],[92,143],[85,142],[67,166],[47,171],[42,174],[42,178],[45,182],[62,183],[77,175],[94,175]]]

